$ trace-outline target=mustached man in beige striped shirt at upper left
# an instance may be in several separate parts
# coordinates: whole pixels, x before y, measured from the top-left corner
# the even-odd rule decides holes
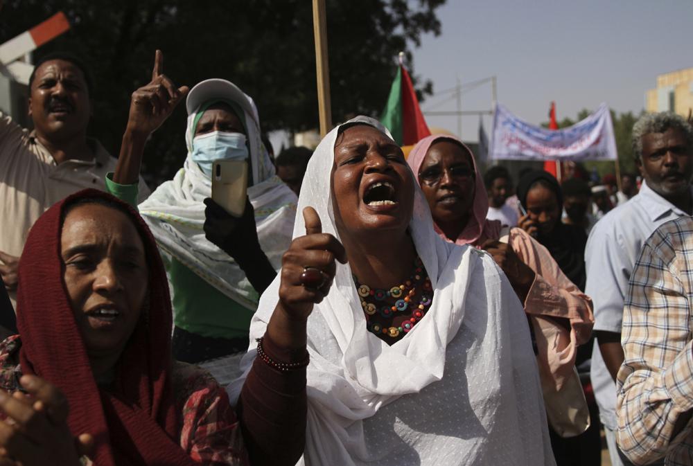
[[[13,304],[19,256],[35,220],[73,192],[105,190],[104,177],[115,170],[116,159],[87,138],[91,88],[81,60],[54,53],[29,78],[33,131],[0,112],[0,277]],[[149,190],[139,183],[144,199]]]

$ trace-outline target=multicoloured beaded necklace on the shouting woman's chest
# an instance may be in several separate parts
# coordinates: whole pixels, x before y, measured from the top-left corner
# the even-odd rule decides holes
[[[410,332],[414,325],[423,319],[433,298],[430,278],[419,256],[414,260],[412,275],[402,285],[390,289],[371,289],[368,285],[360,283],[356,276],[353,277],[353,281],[361,298],[361,307],[369,332],[393,339]],[[416,296],[416,289],[421,291],[419,305],[410,307],[412,299]],[[410,310],[410,315],[403,315],[407,310]],[[398,316],[403,318],[398,325],[383,325],[378,322],[380,319],[393,319],[394,323],[394,320],[399,320]]]

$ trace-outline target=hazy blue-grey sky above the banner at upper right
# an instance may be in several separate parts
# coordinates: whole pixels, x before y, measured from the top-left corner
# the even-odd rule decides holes
[[[693,66],[692,0],[448,0],[437,14],[441,35],[414,48],[414,73],[434,93],[458,77],[464,85],[495,75],[498,102],[529,123],[548,119],[551,100],[559,120],[601,102],[639,112],[658,74]],[[455,110],[445,98],[429,96],[421,108]],[[490,108],[490,84],[462,94],[463,110]],[[457,133],[456,116],[426,120]],[[478,125],[462,117],[466,141],[477,140]]]

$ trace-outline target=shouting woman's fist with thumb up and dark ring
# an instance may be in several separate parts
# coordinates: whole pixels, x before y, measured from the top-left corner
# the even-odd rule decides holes
[[[281,284],[279,302],[274,308],[267,334],[270,339],[287,350],[306,347],[306,321],[313,312],[313,305],[327,296],[335,277],[339,260],[347,263],[347,252],[337,238],[322,233],[322,222],[312,207],[303,211],[306,235],[295,238],[281,259]],[[325,283],[319,289],[304,287],[301,274],[304,267],[322,270]]]

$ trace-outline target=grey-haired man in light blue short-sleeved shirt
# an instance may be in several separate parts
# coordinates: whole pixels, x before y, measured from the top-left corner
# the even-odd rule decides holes
[[[640,192],[597,222],[585,249],[585,293],[595,305],[597,337],[591,378],[614,466],[631,464],[615,443],[624,298],[645,240],[661,224],[692,213],[693,129],[676,114],[646,114],[633,125],[633,156],[643,178]]]

